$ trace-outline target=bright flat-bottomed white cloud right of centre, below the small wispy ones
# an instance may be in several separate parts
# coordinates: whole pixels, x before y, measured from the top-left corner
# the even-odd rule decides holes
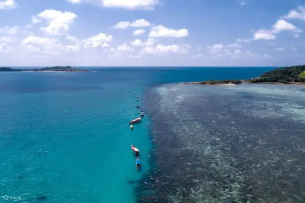
[[[169,29],[163,25],[154,26],[148,34],[150,38],[158,37],[171,37],[171,38],[183,38],[188,37],[189,31],[185,28],[182,29]]]

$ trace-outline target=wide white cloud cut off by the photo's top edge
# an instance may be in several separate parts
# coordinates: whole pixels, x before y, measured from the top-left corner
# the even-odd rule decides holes
[[[104,7],[123,8],[128,10],[153,10],[159,0],[102,0]]]

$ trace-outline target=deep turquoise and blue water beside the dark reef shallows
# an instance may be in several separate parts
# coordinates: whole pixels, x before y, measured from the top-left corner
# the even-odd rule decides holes
[[[152,149],[149,115],[129,128],[138,116],[133,92],[144,96],[161,83],[245,79],[271,69],[0,73],[0,195],[21,196],[19,202],[134,202],[137,181],[154,166],[144,154]],[[140,171],[131,144],[142,150]]]

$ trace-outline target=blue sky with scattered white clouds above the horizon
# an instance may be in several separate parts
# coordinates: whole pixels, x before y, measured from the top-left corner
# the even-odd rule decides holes
[[[305,64],[305,0],[0,0],[0,66]]]

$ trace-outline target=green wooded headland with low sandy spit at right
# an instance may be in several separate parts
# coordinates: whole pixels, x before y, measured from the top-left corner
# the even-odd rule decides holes
[[[209,80],[190,82],[199,85],[236,85],[242,83],[305,84],[305,65],[282,67],[248,80]]]

